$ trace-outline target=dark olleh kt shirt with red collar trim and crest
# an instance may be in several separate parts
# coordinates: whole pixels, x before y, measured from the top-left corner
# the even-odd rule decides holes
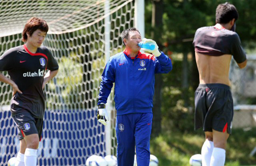
[[[8,71],[23,94],[16,93],[11,100],[12,116],[29,112],[34,118],[43,118],[45,94],[42,83],[46,70],[58,70],[58,63],[45,46],[31,53],[26,45],[7,50],[0,57],[0,71]]]

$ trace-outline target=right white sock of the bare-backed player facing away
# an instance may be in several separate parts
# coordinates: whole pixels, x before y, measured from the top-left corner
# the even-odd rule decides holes
[[[210,166],[224,166],[226,158],[226,150],[222,148],[214,148],[212,151]]]

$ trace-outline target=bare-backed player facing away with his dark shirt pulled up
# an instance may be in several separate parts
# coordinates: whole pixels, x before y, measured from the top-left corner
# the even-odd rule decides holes
[[[203,127],[206,140],[202,164],[222,166],[233,119],[229,66],[233,56],[238,66],[246,66],[246,54],[235,31],[238,11],[229,3],[216,9],[216,25],[201,27],[193,41],[200,84],[195,92],[195,129]]]

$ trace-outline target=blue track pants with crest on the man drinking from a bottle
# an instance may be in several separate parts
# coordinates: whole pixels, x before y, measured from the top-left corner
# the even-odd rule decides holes
[[[149,165],[152,118],[152,113],[136,113],[117,116],[116,136],[118,166],[133,166],[135,146],[137,165]]]

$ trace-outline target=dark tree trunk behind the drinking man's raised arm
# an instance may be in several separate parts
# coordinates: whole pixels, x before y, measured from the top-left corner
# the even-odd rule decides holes
[[[152,39],[154,39],[159,49],[162,50],[162,31],[163,31],[163,1],[157,0],[153,1],[152,5],[152,27],[153,31],[151,33]],[[161,132],[161,89],[162,89],[162,75],[155,75],[155,95],[153,100],[153,123],[152,123],[152,137],[156,137]]]

